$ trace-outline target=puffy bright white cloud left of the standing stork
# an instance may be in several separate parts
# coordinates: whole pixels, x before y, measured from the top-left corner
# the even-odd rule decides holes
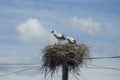
[[[50,31],[35,18],[30,18],[16,28],[18,37],[27,43],[45,42],[50,38]]]

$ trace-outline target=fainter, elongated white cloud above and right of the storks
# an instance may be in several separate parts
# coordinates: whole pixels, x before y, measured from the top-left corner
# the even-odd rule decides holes
[[[101,31],[101,23],[93,20],[93,18],[78,19],[77,17],[72,17],[69,23],[90,35],[96,35]]]

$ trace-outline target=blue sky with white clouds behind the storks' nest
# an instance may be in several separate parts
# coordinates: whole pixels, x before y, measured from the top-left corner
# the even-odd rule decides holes
[[[51,30],[90,46],[90,57],[120,56],[119,8],[120,0],[0,0],[0,80],[44,80],[38,69],[1,77],[31,68],[1,64],[41,64],[42,49],[58,42]],[[120,59],[90,64],[120,68]],[[57,75],[52,80],[61,80],[60,70]],[[81,68],[81,76],[70,74],[69,79],[119,80],[119,75],[115,70]]]

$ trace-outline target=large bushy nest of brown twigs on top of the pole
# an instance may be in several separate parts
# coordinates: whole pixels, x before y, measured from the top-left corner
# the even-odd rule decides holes
[[[45,70],[54,72],[57,67],[66,65],[76,70],[89,57],[89,48],[85,44],[54,44],[43,49],[43,65]]]

